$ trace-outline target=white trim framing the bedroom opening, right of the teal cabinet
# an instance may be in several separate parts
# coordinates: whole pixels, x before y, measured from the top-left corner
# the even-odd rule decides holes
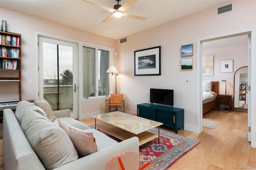
[[[223,38],[230,38],[235,36],[242,36],[242,35],[251,35],[251,58],[248,62],[253,63],[252,65],[256,65],[256,28],[252,29],[246,29],[246,30],[240,30],[225,34],[219,34],[216,36],[210,36],[205,38],[198,38],[196,42],[196,103],[197,103],[197,109],[196,109],[196,115],[197,115],[197,132],[201,133],[203,130],[202,127],[202,43],[208,42],[212,40],[219,40]],[[249,68],[248,68],[249,69]],[[249,72],[249,70],[248,70]],[[251,79],[251,97],[250,97],[250,103],[255,103],[256,99],[256,69],[255,67],[250,68],[250,79]],[[256,148],[256,106],[255,105],[249,105],[248,106],[248,113],[251,113],[251,147]]]

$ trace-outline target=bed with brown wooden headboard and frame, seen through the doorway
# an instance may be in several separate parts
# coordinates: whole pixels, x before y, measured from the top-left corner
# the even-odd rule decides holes
[[[203,87],[204,89],[204,87]],[[203,114],[214,109],[214,108],[218,108],[218,99],[217,99],[217,95],[219,94],[219,82],[218,81],[212,81],[211,82],[211,90],[208,91],[209,93],[211,93],[213,95],[213,97],[207,97],[207,99],[202,98],[202,102],[203,102]],[[204,93],[204,92],[202,92]]]

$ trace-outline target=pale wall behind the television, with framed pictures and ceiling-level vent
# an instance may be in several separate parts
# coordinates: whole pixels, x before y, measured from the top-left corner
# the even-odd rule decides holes
[[[152,87],[174,89],[174,107],[184,108],[185,124],[197,125],[196,40],[256,26],[255,1],[235,1],[234,12],[216,16],[216,9],[152,28],[127,37],[118,45],[118,92],[126,94],[126,111],[149,103]],[[181,45],[194,44],[194,70],[180,70]],[[134,51],[161,45],[160,76],[134,76]],[[255,64],[255,63],[254,63]],[[189,84],[185,80],[189,79]],[[186,127],[185,127],[186,128]]]

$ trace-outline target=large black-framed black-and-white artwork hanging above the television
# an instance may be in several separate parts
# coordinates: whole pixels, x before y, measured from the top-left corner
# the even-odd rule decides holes
[[[134,75],[161,75],[161,46],[134,51]]]

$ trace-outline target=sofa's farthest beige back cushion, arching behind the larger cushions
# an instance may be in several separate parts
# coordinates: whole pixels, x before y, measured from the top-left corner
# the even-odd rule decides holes
[[[28,110],[36,111],[47,118],[45,112],[40,107],[30,103],[29,101],[20,101],[16,107],[15,116],[21,124],[21,119],[24,116],[25,112]]]

